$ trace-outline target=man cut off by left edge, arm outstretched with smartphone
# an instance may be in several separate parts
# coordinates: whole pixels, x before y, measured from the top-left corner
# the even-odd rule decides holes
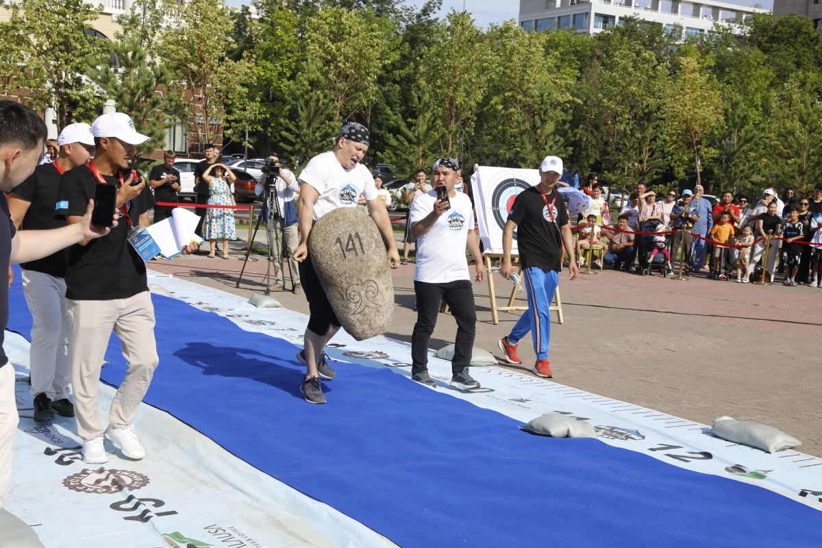
[[[109,233],[109,228],[90,226],[92,204],[86,206],[79,223],[51,230],[22,230],[12,223],[5,193],[34,173],[48,134],[45,123],[31,108],[16,101],[0,101],[0,276],[8,276],[12,263],[29,263],[50,256],[82,239]],[[114,223],[116,224],[116,222]],[[8,279],[0,279],[0,325],[8,322]],[[14,397],[14,368],[2,350],[0,329],[0,509],[6,504],[12,477],[12,440],[20,418]],[[4,523],[21,546],[42,546],[37,535],[21,520],[6,513]],[[0,533],[8,533],[3,529]]]

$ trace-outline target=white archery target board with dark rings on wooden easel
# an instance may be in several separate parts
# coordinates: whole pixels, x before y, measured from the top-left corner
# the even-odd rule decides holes
[[[508,214],[514,207],[514,200],[529,187],[539,182],[536,169],[478,168],[475,189],[482,199],[482,207],[477,211],[479,235],[483,241],[484,251],[502,252],[502,232],[505,229]],[[516,232],[514,246],[516,252]]]

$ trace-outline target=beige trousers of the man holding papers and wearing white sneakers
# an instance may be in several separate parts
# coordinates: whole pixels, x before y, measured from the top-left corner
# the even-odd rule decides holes
[[[72,389],[77,434],[84,440],[103,435],[97,413],[100,368],[112,329],[122,341],[128,371],[111,403],[109,424],[128,428],[159,363],[150,292],[113,301],[67,301],[72,322]]]

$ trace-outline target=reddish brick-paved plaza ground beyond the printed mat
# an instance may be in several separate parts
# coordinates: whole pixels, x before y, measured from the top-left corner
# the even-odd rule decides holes
[[[242,261],[236,258],[200,255],[149,266],[250,297],[261,292],[266,261],[249,263],[240,288]],[[413,264],[393,277],[397,306],[386,336],[410,341]],[[505,279],[495,279],[498,294],[509,290]],[[705,424],[722,415],[764,422],[796,436],[802,452],[822,457],[822,289],[698,277],[677,282],[611,270],[574,281],[565,272],[560,288],[565,323],[553,317],[550,354],[556,382]],[[487,283],[474,289],[475,344],[499,357],[496,341],[520,312],[502,312],[499,325],[492,325]],[[273,295],[291,310],[308,311],[302,295]],[[455,332],[455,321],[441,314],[432,348],[453,342]],[[535,359],[529,338],[519,352],[523,366],[508,367],[527,373]]]

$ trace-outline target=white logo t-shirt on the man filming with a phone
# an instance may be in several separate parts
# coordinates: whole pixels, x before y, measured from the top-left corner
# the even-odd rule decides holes
[[[440,215],[428,233],[417,240],[417,265],[413,279],[417,282],[448,283],[470,280],[465,246],[469,230],[473,230],[471,200],[462,192],[449,198],[451,209]],[[434,210],[436,191],[414,198],[411,222],[416,223]]]

